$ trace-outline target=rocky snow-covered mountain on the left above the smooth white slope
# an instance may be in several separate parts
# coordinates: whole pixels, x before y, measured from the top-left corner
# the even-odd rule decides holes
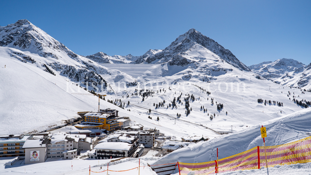
[[[19,20],[5,27],[0,26],[0,39],[2,55],[7,58],[15,57],[52,74],[58,72],[74,82],[83,82],[81,86],[89,86],[89,90],[104,90],[106,81],[136,84],[132,76],[120,71],[111,71],[88,58],[73,53],[28,20]],[[3,47],[8,49],[4,51]]]

